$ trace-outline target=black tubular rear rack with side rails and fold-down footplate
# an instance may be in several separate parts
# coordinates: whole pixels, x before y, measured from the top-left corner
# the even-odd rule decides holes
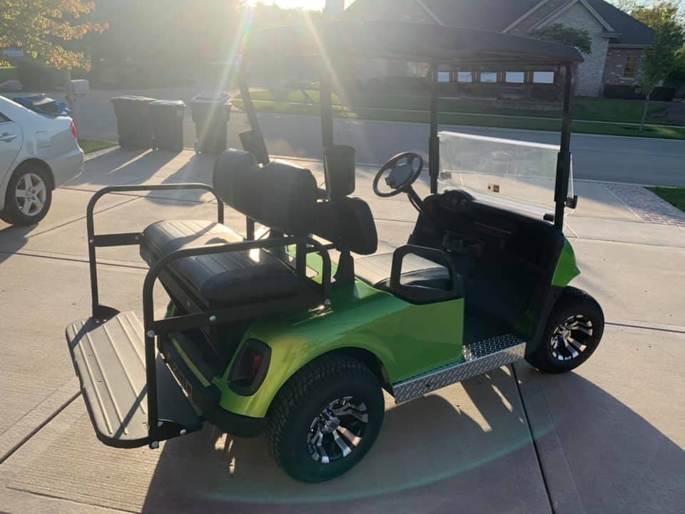
[[[224,204],[211,186],[202,183],[161,184],[150,186],[109,186],[97,191],[86,210],[88,262],[91,275],[92,316],[71,323],[66,339],[76,374],[88,405],[88,413],[98,438],[107,445],[133,448],[149,445],[158,448],[162,440],[186,435],[202,426],[202,418],[193,409],[176,378],[157,353],[164,348],[169,334],[213,326],[241,318],[263,316],[296,305],[285,298],[248,306],[212,308],[161,320],[154,318],[153,288],[166,266],[191,256],[210,255],[256,248],[296,248],[298,276],[306,273],[306,256],[318,253],[323,263],[320,301],[330,303],[331,263],[327,248],[309,236],[273,236],[254,239],[255,222],[246,218],[245,241],[181,248],[158,259],[143,282],[143,322],[134,313],[120,313],[99,301],[96,248],[98,246],[138,245],[140,232],[96,235],[93,212],[99,198],[107,193],[133,191],[169,191],[203,189],[218,203],[218,223],[223,223]]]

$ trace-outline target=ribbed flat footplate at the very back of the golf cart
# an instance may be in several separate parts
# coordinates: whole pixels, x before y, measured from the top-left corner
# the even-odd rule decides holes
[[[69,350],[98,439],[118,448],[158,443],[202,428],[171,372],[156,356],[159,403],[154,430],[148,420],[148,385],[143,325],[136,315],[119,313],[102,323],[95,318],[66,328]]]

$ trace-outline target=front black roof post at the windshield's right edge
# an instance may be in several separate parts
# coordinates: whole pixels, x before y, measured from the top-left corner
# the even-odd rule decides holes
[[[564,208],[569,196],[571,174],[571,110],[575,84],[574,65],[564,64],[564,111],[562,113],[562,140],[557,154],[557,180],[554,189],[554,226],[564,230]]]

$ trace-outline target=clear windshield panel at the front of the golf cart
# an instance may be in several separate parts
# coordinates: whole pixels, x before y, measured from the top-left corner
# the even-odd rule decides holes
[[[461,132],[441,131],[438,136],[440,191],[460,188],[477,198],[554,211],[559,146]]]

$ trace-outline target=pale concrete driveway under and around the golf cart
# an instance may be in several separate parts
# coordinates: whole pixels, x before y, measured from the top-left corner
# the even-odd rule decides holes
[[[306,164],[320,177],[320,163]],[[608,325],[574,373],[546,376],[521,363],[400,406],[386,398],[375,448],[323,485],[280,473],[263,438],[211,427],[160,450],[99,443],[64,341],[66,324],[88,316],[88,198],[107,184],[208,182],[212,165],[188,151],[111,151],[56,191],[39,226],[0,225],[1,512],[682,512],[685,229],[646,223],[597,183],[579,184],[583,201],[565,230],[584,272],[574,285],[597,297]],[[404,243],[415,213],[400,197],[372,196],[374,171],[360,167],[357,194],[382,243]],[[209,195],[111,195],[96,229],[215,216]],[[226,220],[243,229],[230,209]],[[140,313],[146,266],[137,249],[105,250],[103,303]],[[166,304],[162,291],[156,303]]]

